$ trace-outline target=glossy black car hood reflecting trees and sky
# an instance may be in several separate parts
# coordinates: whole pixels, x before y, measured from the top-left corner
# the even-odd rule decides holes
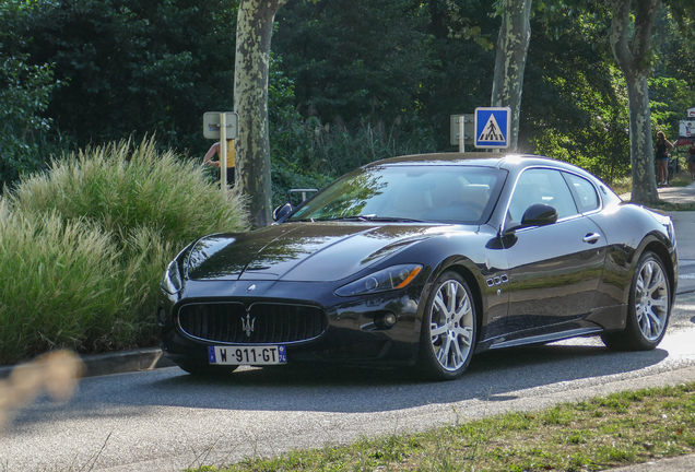
[[[199,239],[186,263],[192,280],[327,282],[445,233],[450,225],[293,223]]]

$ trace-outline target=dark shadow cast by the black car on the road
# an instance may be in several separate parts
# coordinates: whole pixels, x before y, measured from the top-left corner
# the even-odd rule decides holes
[[[407,368],[258,368],[210,379],[172,367],[158,374],[141,373],[140,380],[128,391],[113,391],[106,402],[249,411],[377,412],[471,399],[500,401],[516,398],[514,392],[518,390],[579,379],[600,384],[601,377],[644,369],[668,355],[659,349],[620,353],[596,345],[510,349],[475,355],[461,378],[444,382],[420,380]],[[94,401],[103,404],[105,399]]]

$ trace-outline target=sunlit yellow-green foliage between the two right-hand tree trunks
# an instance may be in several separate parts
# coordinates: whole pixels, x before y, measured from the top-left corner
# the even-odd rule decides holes
[[[522,151],[613,181],[629,170],[627,94],[609,45],[604,8],[537,14],[527,59]]]

